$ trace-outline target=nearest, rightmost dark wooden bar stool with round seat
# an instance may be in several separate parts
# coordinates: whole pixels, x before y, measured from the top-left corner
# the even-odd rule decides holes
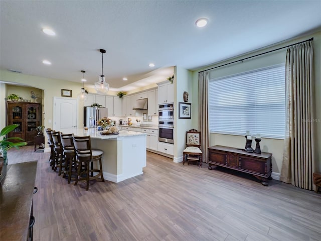
[[[86,190],[89,189],[89,180],[98,179],[100,177],[101,181],[104,182],[104,176],[102,173],[101,158],[103,151],[98,149],[91,149],[90,136],[77,137],[73,136],[73,143],[76,151],[76,158],[78,162],[77,166],[77,179],[75,185],[78,181],[86,181]],[[99,169],[93,168],[93,162],[99,162]],[[91,167],[90,167],[91,164]],[[81,169],[84,165],[84,169]],[[98,172],[94,176],[94,172]],[[90,175],[91,174],[91,175]]]

